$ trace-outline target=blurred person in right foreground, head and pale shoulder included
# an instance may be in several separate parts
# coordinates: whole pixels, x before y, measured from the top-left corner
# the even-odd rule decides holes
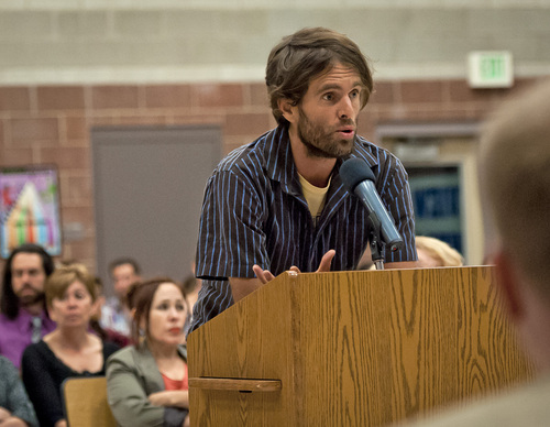
[[[480,183],[482,201],[498,234],[493,253],[497,283],[518,337],[539,368],[539,379],[420,425],[548,426],[550,80],[501,107],[485,127]]]

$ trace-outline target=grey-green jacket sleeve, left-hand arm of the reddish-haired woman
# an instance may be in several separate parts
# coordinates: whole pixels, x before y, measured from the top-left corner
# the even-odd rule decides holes
[[[165,408],[153,405],[134,366],[114,354],[107,362],[107,399],[121,427],[162,427]]]

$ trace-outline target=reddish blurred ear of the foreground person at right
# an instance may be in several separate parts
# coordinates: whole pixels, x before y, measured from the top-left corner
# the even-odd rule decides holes
[[[522,317],[525,307],[521,298],[521,282],[514,261],[507,253],[498,251],[494,255],[494,263],[498,285],[509,315],[513,319]]]

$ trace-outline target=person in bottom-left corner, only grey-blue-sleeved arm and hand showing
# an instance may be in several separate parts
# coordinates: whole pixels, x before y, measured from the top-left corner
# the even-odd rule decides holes
[[[0,427],[38,427],[18,369],[0,355]]]

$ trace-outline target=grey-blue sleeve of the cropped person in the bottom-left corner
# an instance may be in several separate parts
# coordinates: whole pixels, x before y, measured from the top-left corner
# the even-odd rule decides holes
[[[2,384],[7,391],[6,408],[11,412],[12,416],[23,419],[29,426],[37,427],[38,421],[36,420],[34,408],[15,366],[8,359],[3,358],[0,358],[0,364],[1,371],[6,374],[6,383]]]

